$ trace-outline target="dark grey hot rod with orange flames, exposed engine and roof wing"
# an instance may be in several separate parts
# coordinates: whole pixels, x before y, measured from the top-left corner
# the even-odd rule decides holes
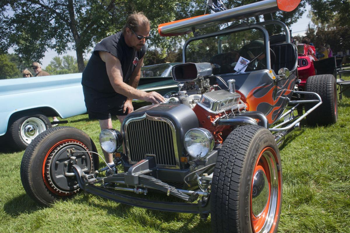
[[[227,22],[290,11],[299,2],[264,0],[161,24],[162,36],[194,32],[183,47],[184,63],[172,70],[179,91],[129,114],[121,132],[100,133],[103,150],[115,153],[113,166],[98,168],[93,141],[78,129],[41,133],[21,163],[27,194],[50,205],[84,190],[133,206],[198,213],[203,220],[210,214],[213,232],[276,232],[279,147],[305,117],[310,124],[337,121],[335,79],[312,76],[307,91],[298,91],[297,50],[284,23]],[[270,44],[270,24],[282,27],[283,41]],[[217,30],[198,31],[209,26]],[[123,143],[125,153],[118,152]],[[101,175],[105,170],[112,174]],[[152,191],[172,201],[147,196]]]

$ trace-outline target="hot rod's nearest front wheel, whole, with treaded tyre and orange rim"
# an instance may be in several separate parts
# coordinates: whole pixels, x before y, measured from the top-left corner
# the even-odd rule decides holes
[[[277,232],[281,203],[281,159],[271,132],[252,125],[233,130],[212,179],[213,232]]]

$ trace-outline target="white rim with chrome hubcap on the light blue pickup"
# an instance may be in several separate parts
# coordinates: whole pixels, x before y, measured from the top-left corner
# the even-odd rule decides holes
[[[36,117],[28,118],[21,125],[21,137],[26,143],[30,143],[38,134],[46,130],[44,122]]]

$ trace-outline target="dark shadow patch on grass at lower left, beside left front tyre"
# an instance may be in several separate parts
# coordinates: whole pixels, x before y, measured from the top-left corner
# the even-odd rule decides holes
[[[15,197],[3,205],[4,211],[13,217],[25,212],[35,212],[42,208],[42,206],[38,206],[27,194]]]

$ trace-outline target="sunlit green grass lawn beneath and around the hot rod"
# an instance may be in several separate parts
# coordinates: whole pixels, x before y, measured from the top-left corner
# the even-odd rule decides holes
[[[279,232],[350,232],[350,91],[338,106],[335,125],[303,127],[280,148]],[[68,121],[89,134],[101,152],[97,121],[87,115]],[[120,128],[117,119],[113,124]],[[210,218],[202,223],[198,215],[146,210],[82,193],[51,207],[37,206],[20,180],[24,151],[12,151],[0,140],[0,232],[211,232]]]

